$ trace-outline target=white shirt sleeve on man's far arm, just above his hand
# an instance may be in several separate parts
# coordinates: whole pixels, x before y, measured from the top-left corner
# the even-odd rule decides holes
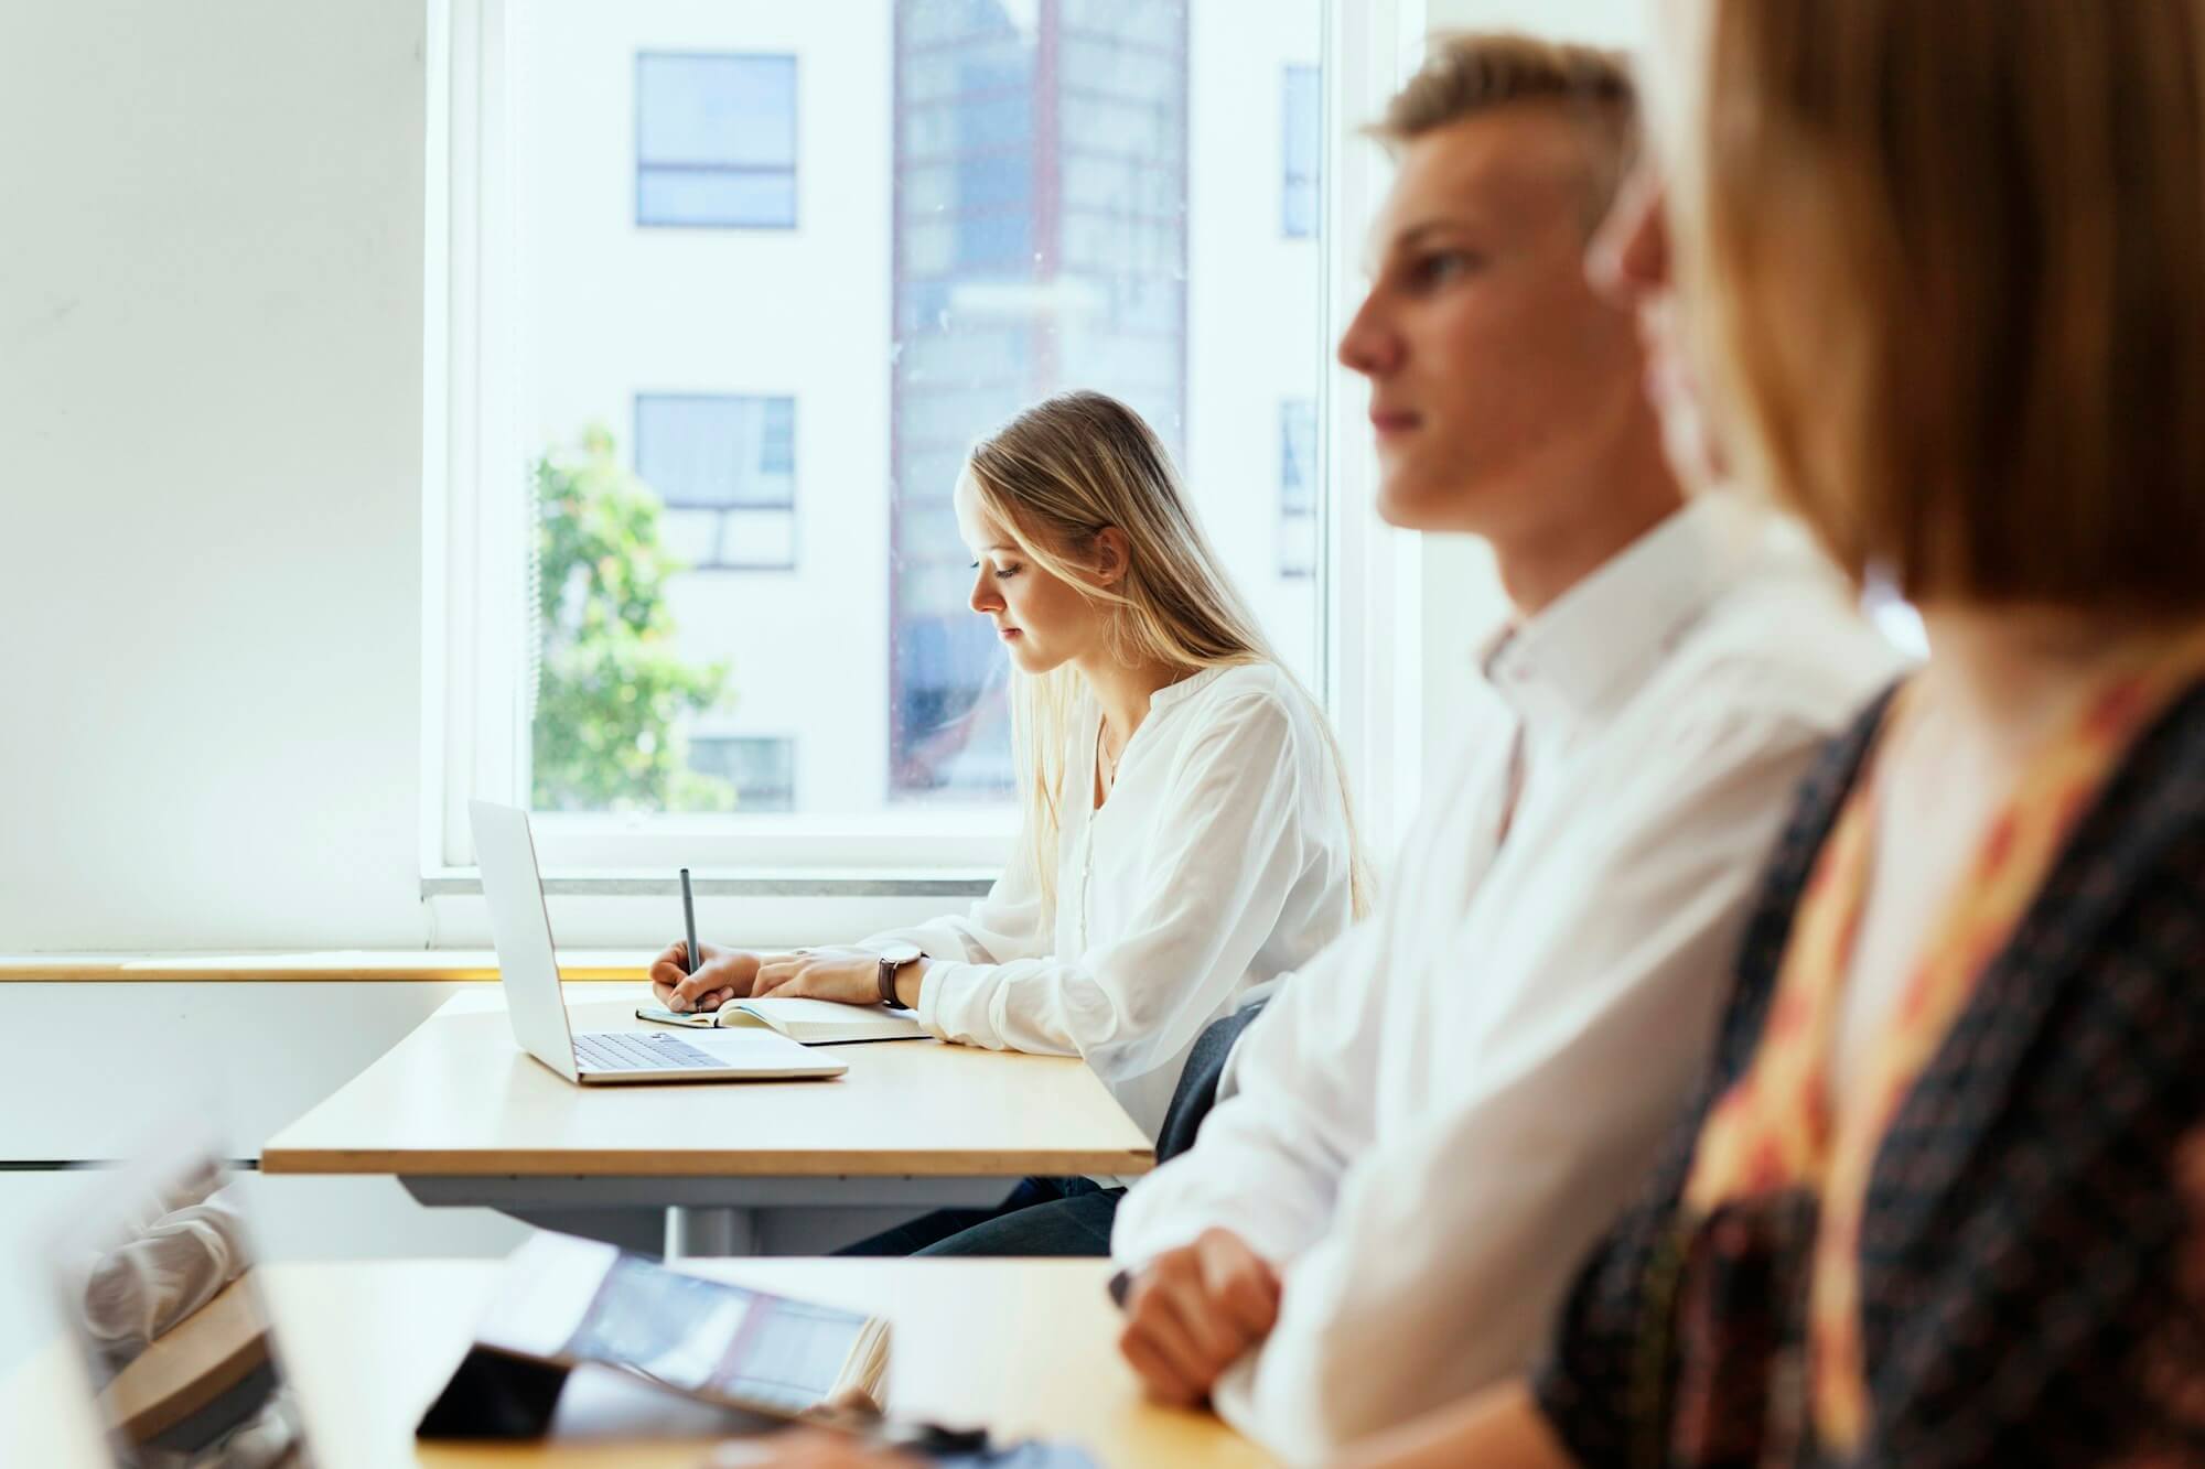
[[[1111,1255],[1122,1268],[1213,1226],[1272,1262],[1325,1231],[1338,1178],[1372,1134],[1385,924],[1380,913],[1338,937],[1248,1026],[1200,1143],[1118,1204]]]

